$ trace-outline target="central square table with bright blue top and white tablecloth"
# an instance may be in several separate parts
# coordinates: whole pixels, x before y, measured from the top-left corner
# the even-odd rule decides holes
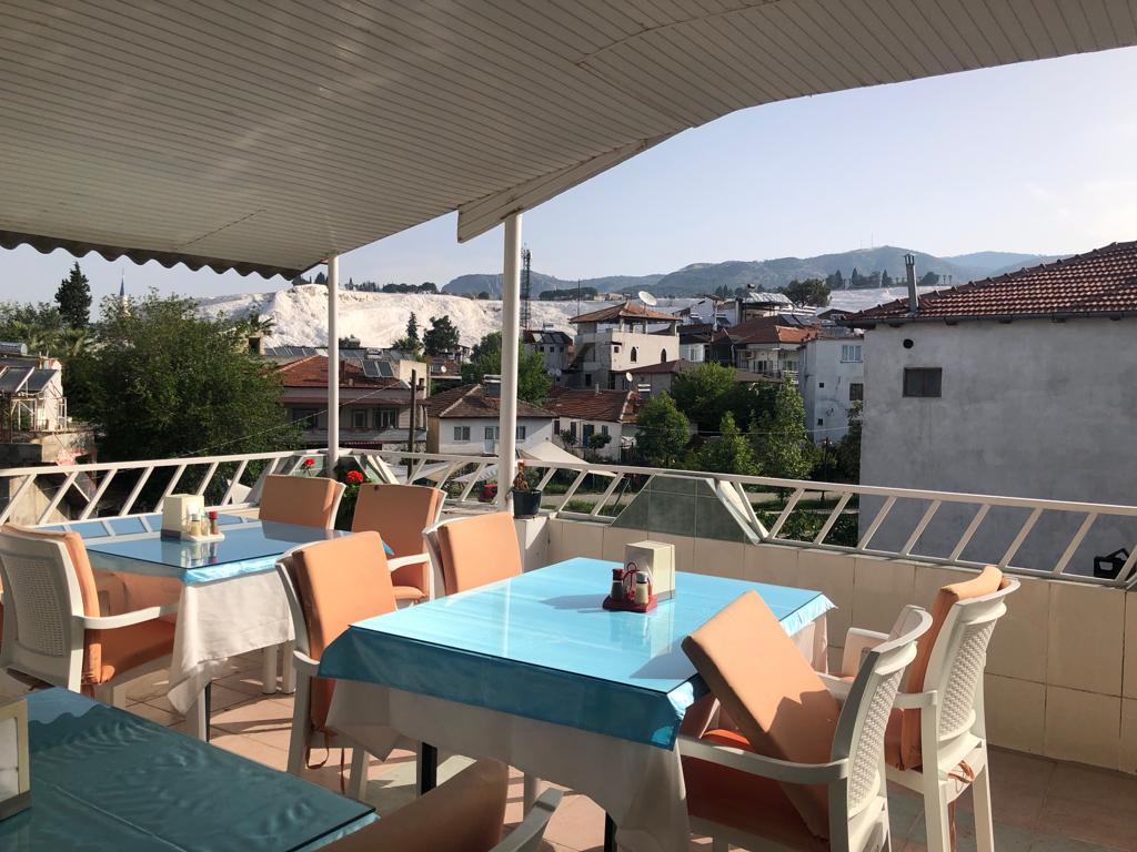
[[[401,737],[495,758],[590,796],[623,849],[686,849],[675,742],[706,686],[680,643],[747,591],[790,635],[832,603],[679,573],[652,612],[614,612],[600,604],[619,567],[571,559],[351,625],[319,662],[337,680],[329,725],[380,758]]]

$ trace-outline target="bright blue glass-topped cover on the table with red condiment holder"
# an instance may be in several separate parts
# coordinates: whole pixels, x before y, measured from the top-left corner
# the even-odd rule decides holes
[[[832,608],[819,592],[679,573],[654,611],[609,612],[614,567],[571,559],[358,621],[319,674],[671,747],[705,690],[683,637],[752,590],[790,634]]]

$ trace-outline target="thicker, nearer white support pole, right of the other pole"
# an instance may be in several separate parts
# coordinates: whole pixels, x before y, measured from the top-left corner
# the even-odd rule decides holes
[[[505,220],[505,268],[501,276],[501,407],[498,426],[498,504],[512,503],[509,488],[517,469],[517,345],[521,341],[521,214]]]

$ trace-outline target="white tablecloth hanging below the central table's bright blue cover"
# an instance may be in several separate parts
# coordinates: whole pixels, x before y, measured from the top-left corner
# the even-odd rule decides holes
[[[825,669],[825,617],[795,642]],[[492,758],[589,796],[619,827],[629,852],[686,850],[690,827],[675,750],[459,704],[356,680],[339,680],[329,725],[385,759],[401,736],[468,758]],[[380,815],[382,816],[382,815]]]

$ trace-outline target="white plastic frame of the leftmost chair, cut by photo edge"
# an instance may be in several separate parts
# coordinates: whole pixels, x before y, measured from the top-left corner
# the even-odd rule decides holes
[[[0,668],[72,692],[81,692],[84,686],[88,630],[127,628],[177,612],[177,604],[171,603],[114,616],[88,616],[67,545],[60,538],[31,531],[0,531],[0,583],[5,590]],[[88,686],[99,701],[124,707],[127,683],[167,668],[169,654]]]

